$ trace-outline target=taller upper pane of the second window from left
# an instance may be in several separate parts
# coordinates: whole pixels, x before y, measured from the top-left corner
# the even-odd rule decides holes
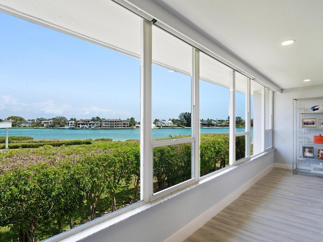
[[[190,128],[192,47],[153,26],[152,61],[153,125]],[[191,129],[175,135],[191,135]],[[152,130],[152,138],[170,136],[174,136],[173,129]]]

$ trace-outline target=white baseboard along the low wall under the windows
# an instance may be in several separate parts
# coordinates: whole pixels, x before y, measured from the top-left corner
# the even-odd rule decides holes
[[[212,217],[216,216],[219,212],[221,212],[225,207],[227,207],[230,203],[236,200],[241,194],[247,191],[252,185],[254,185],[260,178],[266,175],[275,167],[275,164],[268,166],[261,173],[257,174],[255,177],[248,180],[245,184],[240,186],[236,191],[232,192],[229,196],[221,200],[219,203],[212,206],[209,210],[198,216],[196,219],[191,221],[182,229],[178,230],[175,234],[170,236],[164,242],[173,242],[173,241],[183,241],[188,238],[194,231],[199,229],[202,225],[204,225],[208,220]]]

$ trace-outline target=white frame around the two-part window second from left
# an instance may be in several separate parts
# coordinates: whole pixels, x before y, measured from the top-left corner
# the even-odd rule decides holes
[[[192,47],[192,75],[191,75],[191,137],[190,138],[178,138],[178,139],[166,139],[166,140],[157,140],[152,141],[151,139],[151,115],[152,115],[152,26],[153,23],[147,20],[143,20],[143,35],[147,35],[143,37],[146,42],[143,42],[143,49],[145,51],[142,53],[142,58],[146,59],[143,61],[141,68],[145,69],[143,72],[145,75],[141,75],[141,83],[142,83],[142,92],[146,92],[145,96],[143,96],[143,110],[142,110],[142,124],[143,130],[141,131],[143,134],[141,136],[141,141],[143,142],[142,151],[141,151],[141,159],[142,159],[142,173],[144,174],[144,184],[142,184],[142,192],[143,192],[143,200],[144,201],[152,201],[157,198],[166,196],[169,193],[172,193],[180,188],[186,187],[189,184],[196,182],[199,179],[199,109],[198,105],[198,91],[199,91],[199,51]],[[165,30],[163,30],[165,31]],[[168,32],[168,31],[166,31]],[[149,43],[147,42],[149,39]],[[147,46],[146,46],[147,45]],[[146,87],[145,87],[146,85]],[[149,93],[148,93],[149,92]],[[149,109],[149,110],[146,110]],[[149,133],[149,135],[145,134]],[[170,146],[177,144],[191,144],[191,178],[183,181],[177,185],[172,187],[163,189],[156,193],[153,193],[153,148],[162,147],[162,146]],[[145,178],[146,177],[146,178]]]

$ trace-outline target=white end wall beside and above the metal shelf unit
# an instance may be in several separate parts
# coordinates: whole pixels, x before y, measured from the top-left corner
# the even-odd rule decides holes
[[[273,145],[277,167],[292,169],[293,162],[293,99],[321,97],[323,85],[284,89],[274,92]],[[318,103],[316,105],[322,105]]]

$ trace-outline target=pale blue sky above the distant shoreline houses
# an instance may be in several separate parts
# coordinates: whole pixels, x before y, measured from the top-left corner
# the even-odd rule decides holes
[[[0,22],[0,118],[139,121],[138,59],[3,13]],[[190,111],[190,77],[154,66],[152,88],[152,119]],[[200,117],[226,119],[228,89],[205,82],[200,89]]]

